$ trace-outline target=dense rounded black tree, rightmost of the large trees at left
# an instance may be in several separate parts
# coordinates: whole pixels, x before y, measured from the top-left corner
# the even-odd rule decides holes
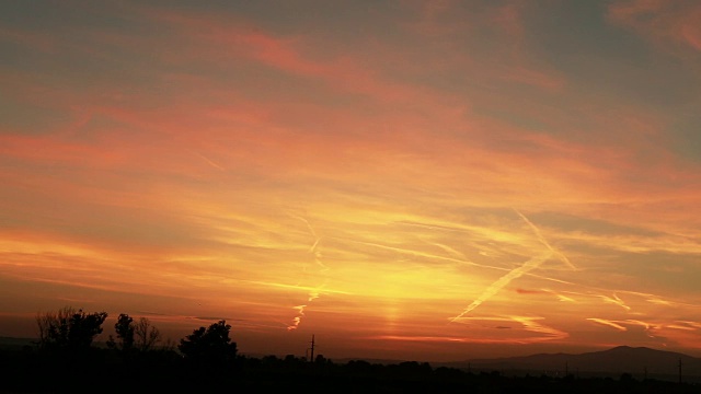
[[[226,321],[214,323],[208,328],[199,327],[180,340],[177,347],[185,360],[199,364],[226,366],[237,356],[237,343],[229,338],[231,326]]]

